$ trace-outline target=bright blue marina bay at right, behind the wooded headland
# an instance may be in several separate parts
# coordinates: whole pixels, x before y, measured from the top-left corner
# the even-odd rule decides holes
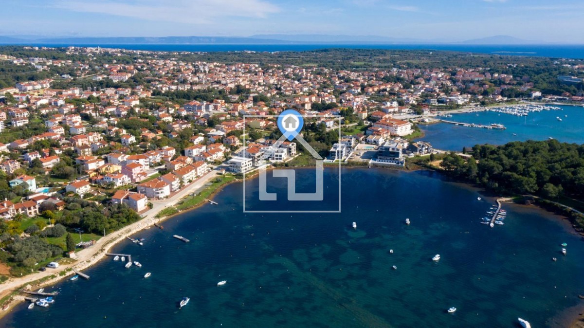
[[[561,107],[562,110],[540,111],[530,113],[529,116],[513,116],[493,111],[453,114],[447,120],[476,124],[499,123],[505,125],[507,130],[438,123],[422,125],[425,136],[420,139],[429,141],[434,148],[452,151],[461,151],[465,146],[471,147],[476,144],[503,145],[510,141],[545,140],[548,137],[562,142],[583,144],[584,107],[556,107]],[[568,117],[565,117],[566,115]],[[557,120],[558,116],[562,121]]]

